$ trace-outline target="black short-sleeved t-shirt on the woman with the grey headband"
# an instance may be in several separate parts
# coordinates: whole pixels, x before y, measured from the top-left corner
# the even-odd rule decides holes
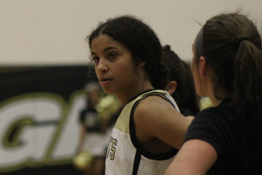
[[[185,135],[184,142],[200,139],[215,148],[217,161],[208,171],[210,175],[236,175],[243,171],[243,140],[230,101],[224,100],[217,107],[206,108],[197,114]]]

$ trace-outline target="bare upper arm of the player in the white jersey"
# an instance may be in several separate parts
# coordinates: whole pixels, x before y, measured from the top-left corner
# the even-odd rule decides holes
[[[159,96],[142,100],[135,109],[134,120],[139,141],[156,137],[176,149],[180,149],[191,123],[190,119]]]

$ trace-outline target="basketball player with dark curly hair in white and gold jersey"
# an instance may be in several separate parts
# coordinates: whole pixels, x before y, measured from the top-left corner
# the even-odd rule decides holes
[[[87,40],[102,88],[122,106],[108,138],[105,174],[164,174],[191,121],[159,90],[168,80],[155,32],[120,16],[100,23]]]

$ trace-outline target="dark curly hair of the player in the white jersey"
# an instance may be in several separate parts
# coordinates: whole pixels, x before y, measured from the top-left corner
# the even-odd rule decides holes
[[[130,50],[136,67],[144,61],[145,70],[154,88],[164,89],[167,70],[161,64],[162,47],[156,33],[137,17],[124,15],[102,22],[86,38],[91,48],[92,40],[106,34]]]

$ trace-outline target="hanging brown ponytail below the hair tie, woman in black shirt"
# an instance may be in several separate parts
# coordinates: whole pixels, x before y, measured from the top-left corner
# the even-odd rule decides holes
[[[252,40],[242,41],[235,58],[234,102],[246,144],[246,167],[256,165],[262,143],[262,52]],[[254,166],[256,165],[256,166]],[[255,172],[246,172],[255,174]]]

